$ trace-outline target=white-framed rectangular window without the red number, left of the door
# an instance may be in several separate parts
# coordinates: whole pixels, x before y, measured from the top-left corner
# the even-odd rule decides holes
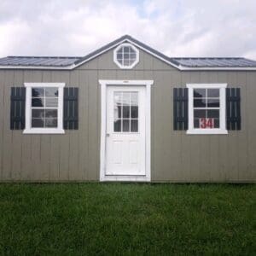
[[[64,133],[62,83],[26,83],[24,133]]]

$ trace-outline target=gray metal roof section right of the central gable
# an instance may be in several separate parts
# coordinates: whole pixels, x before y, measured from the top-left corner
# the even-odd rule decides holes
[[[256,67],[256,61],[246,58],[170,58],[183,67]]]

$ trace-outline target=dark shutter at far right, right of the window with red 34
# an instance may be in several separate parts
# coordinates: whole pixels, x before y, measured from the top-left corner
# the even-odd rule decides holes
[[[241,130],[240,88],[226,88],[226,121],[228,130]]]

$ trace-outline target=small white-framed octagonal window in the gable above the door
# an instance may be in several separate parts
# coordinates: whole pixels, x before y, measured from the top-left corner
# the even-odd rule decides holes
[[[139,61],[139,51],[131,44],[120,44],[113,51],[113,61],[120,68],[132,68]]]

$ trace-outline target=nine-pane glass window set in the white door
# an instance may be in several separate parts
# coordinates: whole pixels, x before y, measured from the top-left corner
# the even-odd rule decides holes
[[[113,93],[113,131],[138,131],[138,93],[137,91],[115,91]]]

